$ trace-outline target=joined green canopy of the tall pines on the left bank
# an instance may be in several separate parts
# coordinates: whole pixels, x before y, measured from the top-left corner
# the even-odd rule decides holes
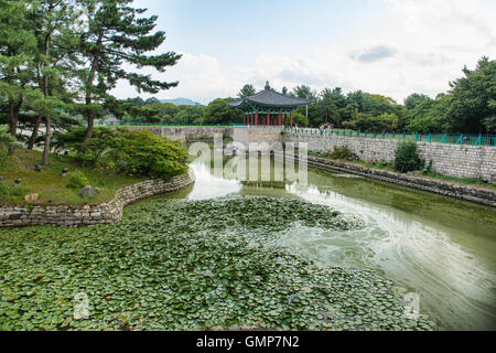
[[[54,128],[79,125],[85,116],[84,150],[96,117],[109,110],[125,115],[126,108],[119,110],[110,94],[119,79],[139,93],[177,85],[141,74],[147,67],[163,73],[181,55],[150,54],[163,44],[165,33],[154,31],[157,15],[144,17],[147,10],[132,4],[132,0],[0,0],[0,117],[12,136],[20,124],[32,128],[29,148],[44,122],[44,163]]]

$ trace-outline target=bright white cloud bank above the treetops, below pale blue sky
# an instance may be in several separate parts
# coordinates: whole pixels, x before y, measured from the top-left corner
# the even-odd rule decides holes
[[[228,67],[211,55],[185,53],[163,76],[180,81],[159,98],[187,97],[208,103],[236,96],[246,83],[262,88],[308,84],[316,89],[339,86],[363,89],[401,101],[413,92],[435,94],[474,67],[483,55],[496,56],[494,8],[483,0],[382,0],[387,13],[355,33],[359,42],[316,47],[311,52],[260,53],[251,63]],[[236,50],[235,47],[233,50]],[[120,97],[133,93],[120,86]]]

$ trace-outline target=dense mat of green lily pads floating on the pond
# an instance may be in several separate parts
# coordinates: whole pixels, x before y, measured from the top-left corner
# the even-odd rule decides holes
[[[149,200],[93,228],[6,231],[0,330],[434,329],[406,315],[377,272],[274,246],[294,222],[360,226],[326,206],[235,196]]]

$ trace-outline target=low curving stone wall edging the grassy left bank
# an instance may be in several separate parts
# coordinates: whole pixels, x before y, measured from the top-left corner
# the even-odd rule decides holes
[[[122,211],[139,200],[176,191],[194,182],[188,173],[169,181],[147,180],[120,189],[114,200],[98,205],[0,205],[0,227],[32,225],[58,225],[78,227],[115,223],[122,217]]]

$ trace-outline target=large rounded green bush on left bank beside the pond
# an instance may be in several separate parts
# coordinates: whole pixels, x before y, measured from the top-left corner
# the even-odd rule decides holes
[[[55,146],[77,150],[85,129],[57,135]],[[148,130],[118,128],[95,129],[84,153],[76,158],[88,167],[112,174],[159,176],[169,179],[187,171],[187,151],[180,142],[159,137]]]

